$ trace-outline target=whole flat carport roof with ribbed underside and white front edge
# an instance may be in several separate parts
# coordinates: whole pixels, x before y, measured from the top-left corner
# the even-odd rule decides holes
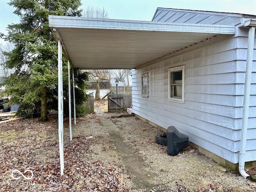
[[[74,68],[132,69],[220,34],[234,26],[49,16]]]

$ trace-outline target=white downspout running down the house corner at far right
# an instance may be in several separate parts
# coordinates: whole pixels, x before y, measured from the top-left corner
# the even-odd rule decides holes
[[[240,174],[244,178],[249,177],[249,175],[244,170],[244,164],[245,164],[245,153],[246,153],[251,79],[252,79],[254,36],[255,36],[255,26],[250,26],[249,33],[248,33],[248,47],[247,47],[246,72],[245,72],[245,83],[244,83],[244,106],[243,106],[243,116],[242,116],[242,130],[241,130],[239,168],[238,168]]]

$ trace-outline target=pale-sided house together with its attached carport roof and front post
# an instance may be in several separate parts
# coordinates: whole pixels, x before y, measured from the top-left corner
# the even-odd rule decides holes
[[[64,47],[74,68],[135,69],[136,116],[162,130],[175,126],[248,176],[245,162],[256,164],[256,16],[158,8],[151,22],[49,16],[49,26],[59,57]]]

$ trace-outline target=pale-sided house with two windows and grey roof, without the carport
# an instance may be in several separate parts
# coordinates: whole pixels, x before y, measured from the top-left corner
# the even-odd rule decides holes
[[[234,169],[239,162],[248,48],[248,28],[240,26],[248,17],[256,18],[158,8],[152,21],[231,24],[235,35],[197,43],[138,67],[132,74],[132,112],[164,129],[175,126],[202,152]],[[248,115],[244,158],[252,162],[256,161],[256,43]]]

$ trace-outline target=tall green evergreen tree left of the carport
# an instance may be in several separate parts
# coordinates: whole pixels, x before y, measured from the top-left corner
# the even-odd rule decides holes
[[[5,52],[5,65],[15,72],[5,79],[5,92],[11,103],[35,106],[40,103],[40,120],[47,120],[47,102],[58,85],[57,42],[48,26],[48,15],[82,16],[80,0],[11,0],[20,23],[8,25],[4,38],[14,44]],[[63,63],[64,69],[67,66]],[[64,82],[67,75],[63,72]],[[87,78],[87,74],[84,74]]]

